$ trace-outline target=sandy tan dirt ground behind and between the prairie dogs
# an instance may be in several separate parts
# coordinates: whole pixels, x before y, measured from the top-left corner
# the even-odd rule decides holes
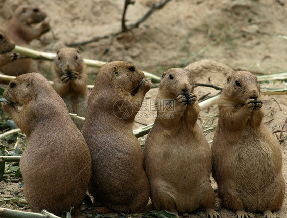
[[[129,5],[127,24],[135,23],[157,0],[137,0]],[[124,0],[0,0],[0,22],[5,25],[20,4],[34,4],[45,10],[52,31],[33,41],[31,48],[56,53],[57,49],[72,42],[90,40],[96,36],[115,33],[121,29]],[[282,0],[171,0],[154,12],[139,28],[119,34],[112,39],[102,39],[78,47],[84,58],[101,61],[122,60],[136,64],[141,70],[161,75],[172,67],[185,67],[203,59],[227,64],[234,70],[249,70],[258,75],[284,72],[287,69],[287,5]],[[108,48],[108,49],[107,49]],[[108,51],[107,51],[108,50]],[[38,72],[51,79],[52,62],[35,61]],[[89,84],[94,84],[98,69],[88,67]],[[202,71],[194,75],[199,83],[224,86],[226,74]],[[287,87],[286,82],[264,83],[261,87]],[[218,91],[197,87],[199,98],[212,96]],[[156,96],[157,89],[147,93],[148,99]],[[264,122],[271,132],[282,129],[287,119],[287,96],[264,96]],[[155,113],[155,112],[154,112]],[[150,112],[153,114],[153,112]],[[218,116],[217,106],[200,113],[198,124],[202,126],[207,140],[212,142]],[[138,116],[134,128],[150,124],[151,118]],[[212,122],[212,120],[214,120]],[[142,124],[139,124],[142,123]],[[283,155],[283,174],[287,181],[287,132],[274,133],[280,141]],[[139,139],[143,144],[145,137]],[[2,142],[1,142],[2,143]],[[1,145],[1,144],[0,144]],[[13,147],[13,146],[12,146]],[[212,179],[212,185],[216,183]],[[22,196],[18,184],[0,182],[0,200],[7,196]],[[1,204],[1,201],[0,201]],[[0,205],[21,209],[15,204]],[[216,210],[223,217],[234,217],[234,211],[220,206]],[[254,217],[260,214],[250,213]],[[275,211],[276,217],[287,217],[287,199],[282,208]],[[81,217],[85,217],[82,214]],[[202,210],[190,213],[189,217],[204,217]]]

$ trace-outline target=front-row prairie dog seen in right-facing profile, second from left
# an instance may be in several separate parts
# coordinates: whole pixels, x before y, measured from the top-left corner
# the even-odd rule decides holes
[[[142,149],[132,132],[137,108],[151,88],[151,81],[143,78],[133,64],[110,62],[99,70],[89,95],[82,132],[92,156],[89,192],[95,206],[103,204],[115,211],[135,213],[142,212],[148,202],[149,181],[143,170]],[[121,102],[117,102],[119,99]],[[132,105],[127,107],[130,116],[118,118],[114,113],[116,102]]]

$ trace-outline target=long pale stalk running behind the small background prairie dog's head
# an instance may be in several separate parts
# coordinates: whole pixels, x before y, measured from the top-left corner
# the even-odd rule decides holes
[[[29,58],[33,58],[33,59],[41,59],[41,60],[53,61],[55,59],[55,57],[56,57],[56,53],[48,53],[48,52],[43,52],[43,51],[37,51],[37,50],[31,49],[31,48],[22,47],[22,46],[19,46],[19,45],[16,45],[13,51],[21,53],[22,55],[25,55],[25,56],[27,56]],[[87,66],[89,66],[89,67],[98,67],[98,68],[100,68],[104,64],[107,63],[105,61],[92,60],[92,59],[86,59],[86,58],[84,58],[83,60],[84,60],[84,63]],[[143,71],[143,73],[145,74],[145,76],[147,78],[150,78],[154,83],[160,83],[161,78],[159,76],[156,76],[156,75],[154,75],[152,73],[148,73],[148,72],[145,72],[145,71]]]

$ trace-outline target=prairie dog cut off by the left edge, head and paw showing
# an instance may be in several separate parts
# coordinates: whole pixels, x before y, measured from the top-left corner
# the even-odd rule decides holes
[[[11,52],[14,48],[15,44],[10,34],[0,26],[0,68],[18,58],[17,53]]]

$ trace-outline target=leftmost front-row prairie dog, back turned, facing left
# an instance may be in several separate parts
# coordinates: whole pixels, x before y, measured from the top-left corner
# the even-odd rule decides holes
[[[77,214],[90,179],[91,157],[64,101],[38,73],[10,81],[3,97],[9,102],[2,102],[3,109],[27,137],[20,170],[30,208],[60,216],[74,207]]]

